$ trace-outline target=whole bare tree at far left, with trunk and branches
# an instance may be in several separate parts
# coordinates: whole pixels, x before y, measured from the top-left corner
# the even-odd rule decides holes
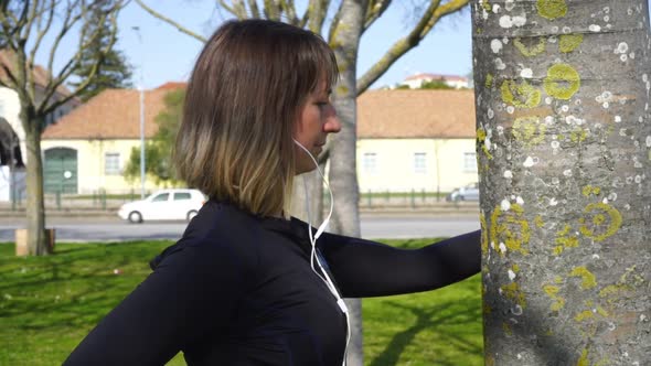
[[[43,204],[43,161],[41,133],[45,129],[46,116],[78,95],[97,73],[98,63],[83,76],[71,92],[63,85],[82,65],[83,51],[99,40],[102,28],[92,26],[89,17],[94,7],[103,0],[14,0],[0,3],[0,39],[9,60],[2,63],[0,86],[15,90],[20,100],[20,121],[25,133],[28,174],[28,248],[32,255],[49,254],[45,237],[45,212]],[[117,33],[117,13],[122,1],[105,8],[100,21],[109,21],[110,41],[102,52],[108,53]],[[74,54],[54,69],[62,40],[78,31],[78,43]],[[43,40],[52,40],[44,44]],[[49,41],[50,42],[50,41]],[[45,71],[36,66],[39,52],[47,52]],[[57,60],[58,61],[58,60]]]

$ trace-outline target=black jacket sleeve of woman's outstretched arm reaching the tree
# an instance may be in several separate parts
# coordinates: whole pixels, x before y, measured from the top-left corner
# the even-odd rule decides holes
[[[434,290],[480,271],[481,230],[420,249],[323,234],[319,248],[345,298]]]

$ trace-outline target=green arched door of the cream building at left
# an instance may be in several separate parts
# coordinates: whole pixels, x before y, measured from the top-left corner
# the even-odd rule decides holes
[[[77,151],[67,148],[45,150],[43,164],[45,193],[77,193]]]

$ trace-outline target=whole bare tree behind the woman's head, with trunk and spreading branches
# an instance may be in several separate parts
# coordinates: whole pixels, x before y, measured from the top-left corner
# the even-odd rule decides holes
[[[256,0],[217,0],[216,6],[237,19],[265,18],[284,21],[300,28],[308,28],[321,34],[337,55],[341,80],[333,93],[334,105],[342,122],[340,133],[329,141],[324,153],[329,159],[329,182],[334,194],[334,213],[331,229],[350,236],[360,236],[359,185],[356,177],[356,97],[377,80],[399,57],[405,55],[431,31],[442,18],[461,10],[469,0],[421,0],[423,8],[418,19],[406,36],[395,42],[386,53],[364,74],[357,78],[356,62],[360,41],[364,32],[388,9],[392,0],[309,0],[302,14],[297,12],[294,0],[256,1]],[[205,37],[186,26],[148,7],[142,0],[136,0],[142,9],[153,17],[177,28],[180,32],[205,42]],[[327,15],[333,10],[332,19]],[[324,25],[329,21],[329,29]],[[324,159],[321,157],[321,161]],[[313,201],[311,207],[322,207],[322,186],[318,174],[308,177]],[[297,191],[302,191],[298,182]],[[295,195],[297,206],[302,206],[303,197]],[[321,211],[316,209],[320,217]],[[362,365],[362,323],[361,303],[348,301],[352,313],[353,346],[349,352],[349,365]]]

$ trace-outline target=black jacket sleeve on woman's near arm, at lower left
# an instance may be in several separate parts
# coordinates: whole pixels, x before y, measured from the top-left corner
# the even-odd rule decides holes
[[[227,326],[245,267],[218,244],[177,245],[64,365],[164,365],[209,331]]]

